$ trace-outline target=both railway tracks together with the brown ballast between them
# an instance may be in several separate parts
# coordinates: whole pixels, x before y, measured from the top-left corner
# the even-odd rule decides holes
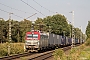
[[[79,45],[76,45],[76,46],[79,46]],[[67,51],[69,49],[71,49],[71,46],[68,46],[68,47],[63,47],[61,48],[62,50],[64,51]],[[3,58],[0,58],[0,60],[21,60],[19,59],[20,57],[25,57],[25,56],[29,56],[27,58],[27,60],[47,60],[49,59],[50,57],[52,57],[52,53],[54,52],[55,50],[52,50],[52,51],[47,51],[47,52],[43,52],[43,53],[24,53],[24,54],[16,54],[16,55],[12,55],[12,56],[7,56],[7,57],[3,57]],[[33,56],[32,56],[33,55]]]

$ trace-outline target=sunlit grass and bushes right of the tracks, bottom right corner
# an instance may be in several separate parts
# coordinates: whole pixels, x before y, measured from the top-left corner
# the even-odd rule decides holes
[[[90,41],[90,39],[88,39]],[[66,55],[62,49],[56,49],[53,53],[55,60],[90,60],[90,42],[72,48]]]

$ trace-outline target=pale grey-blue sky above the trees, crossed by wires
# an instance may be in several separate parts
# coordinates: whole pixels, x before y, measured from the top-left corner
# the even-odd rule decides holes
[[[82,26],[85,33],[86,26],[90,20],[90,0],[0,0],[0,18],[21,21],[28,18],[35,21],[37,17],[44,18],[55,14],[65,15],[68,21],[72,22],[72,13],[74,11],[74,26]],[[56,13],[57,12],[57,13]]]

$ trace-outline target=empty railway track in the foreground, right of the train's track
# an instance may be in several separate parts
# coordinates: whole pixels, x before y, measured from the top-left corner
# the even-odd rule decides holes
[[[79,46],[79,45],[76,45],[76,46]],[[71,46],[68,46],[68,47],[63,47],[61,48],[63,51],[67,51],[69,49],[71,49]],[[49,52],[45,52],[45,53],[42,53],[36,57],[33,57],[33,58],[30,58],[28,60],[48,60],[49,58],[51,58],[53,56],[53,52],[55,50],[52,50],[52,51],[49,51]]]

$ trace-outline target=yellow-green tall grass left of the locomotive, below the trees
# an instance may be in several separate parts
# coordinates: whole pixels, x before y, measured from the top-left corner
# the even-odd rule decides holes
[[[10,46],[10,47],[8,47]],[[19,54],[24,52],[24,43],[3,43],[0,44],[0,57],[8,56],[8,48],[10,55]]]

